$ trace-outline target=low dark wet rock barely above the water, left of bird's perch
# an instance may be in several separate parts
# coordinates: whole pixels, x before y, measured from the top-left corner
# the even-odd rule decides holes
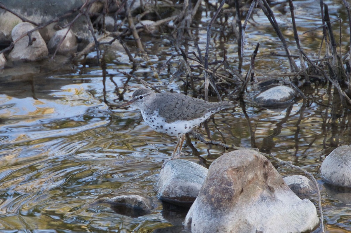
[[[111,209],[116,213],[131,217],[143,216],[154,208],[152,200],[139,195],[121,195],[105,198],[100,202],[111,205]]]

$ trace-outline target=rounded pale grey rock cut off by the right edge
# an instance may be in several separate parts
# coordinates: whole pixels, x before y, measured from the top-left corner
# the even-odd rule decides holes
[[[322,162],[320,174],[326,183],[351,188],[351,146],[333,150]]]

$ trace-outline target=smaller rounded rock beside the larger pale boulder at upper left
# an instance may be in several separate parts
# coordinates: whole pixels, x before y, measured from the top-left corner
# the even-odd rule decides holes
[[[54,36],[51,37],[49,43],[47,44],[47,47],[51,54],[55,52],[64,36],[66,37],[64,38],[59,49],[57,50],[57,54],[67,55],[77,50],[77,38],[72,33],[72,30],[69,30],[68,33],[67,31],[68,28],[58,30],[55,32]]]

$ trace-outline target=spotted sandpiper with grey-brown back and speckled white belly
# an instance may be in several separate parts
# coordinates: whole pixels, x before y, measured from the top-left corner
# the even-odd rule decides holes
[[[200,125],[201,122],[220,110],[234,107],[231,101],[212,103],[184,94],[154,93],[149,89],[138,89],[133,93],[131,100],[121,104],[118,108],[130,104],[139,108],[144,121],[153,130],[178,137],[177,146],[168,160],[180,156],[185,134],[193,127]]]

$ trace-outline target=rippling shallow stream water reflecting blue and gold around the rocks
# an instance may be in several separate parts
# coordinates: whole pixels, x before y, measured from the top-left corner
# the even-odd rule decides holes
[[[345,14],[338,7],[342,3],[326,3],[333,12]],[[294,4],[298,24],[302,25],[301,33],[320,24],[317,1],[294,1]],[[291,20],[279,13],[277,7],[274,9],[283,32],[289,34]],[[246,30],[243,70],[250,62],[254,46],[260,42],[257,73],[261,76],[283,73],[289,69],[284,57],[264,57],[271,51],[283,51],[264,14],[259,14],[260,17],[255,17],[257,27],[249,24]],[[343,24],[347,23],[345,19]],[[318,33],[320,30],[301,36],[303,48],[315,51],[314,46],[319,47],[319,42],[312,38]],[[289,35],[294,49],[293,36]],[[206,31],[200,31],[201,48],[204,48],[205,36]],[[234,70],[236,43],[235,40],[225,43]],[[134,75],[163,90],[179,91],[183,84],[180,80],[169,77],[167,71],[156,75],[174,52],[171,45],[167,40],[153,39],[148,46],[155,55],[148,55],[145,60],[138,58],[143,66],[139,66]],[[212,49],[213,54],[221,52],[219,46]],[[118,101],[115,88],[122,86],[126,77],[117,70],[132,70],[126,55],[117,55],[107,61],[106,71],[113,75],[113,81],[108,76],[106,82],[99,66],[86,66],[83,61],[48,73],[29,72],[26,64],[14,66],[16,75],[10,68],[2,71],[1,232],[183,231],[179,225],[184,209],[167,209],[155,198],[154,191],[163,160],[171,155],[176,139],[154,132],[137,109],[110,110],[104,103],[104,97],[110,103]],[[90,54],[93,56],[94,53]],[[179,59],[173,60],[170,73],[178,69]],[[135,80],[128,84],[141,86]],[[132,92],[133,89],[124,98],[129,100]],[[350,232],[350,195],[348,198],[329,191],[318,176],[318,166],[336,146],[350,144],[351,115],[347,110],[333,114],[338,109],[333,107],[335,102],[333,106],[328,103],[328,99],[333,98],[333,90],[329,92],[327,86],[315,87],[309,93],[305,91],[305,95],[308,96],[306,102],[300,100],[291,108],[279,111],[246,105],[247,118],[241,107],[221,111],[200,130],[209,132],[211,139],[245,148],[254,146],[312,172],[320,184],[326,232]],[[254,130],[254,138],[250,128]],[[225,152],[217,146],[191,141],[207,165]],[[199,162],[188,145],[181,159]],[[286,167],[277,169],[282,175],[297,173]],[[101,197],[126,193],[150,197],[157,207],[150,214],[133,218],[95,203]],[[316,197],[310,199],[317,205]]]

